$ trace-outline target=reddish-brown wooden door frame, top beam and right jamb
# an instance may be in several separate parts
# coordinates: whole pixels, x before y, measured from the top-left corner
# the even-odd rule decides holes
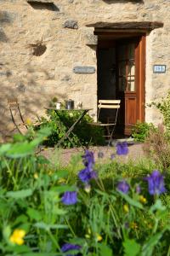
[[[136,72],[136,83],[138,83],[137,86],[137,104],[138,104],[138,108],[137,108],[137,117],[136,119],[139,120],[140,122],[144,122],[145,119],[145,58],[146,58],[146,53],[145,53],[145,49],[146,49],[146,33],[144,32],[129,32],[125,31],[125,32],[104,32],[102,31],[102,33],[100,32],[95,32],[96,35],[98,35],[99,40],[102,41],[106,40],[107,36],[110,38],[110,40],[120,40],[124,37],[125,40],[128,39],[133,39],[133,38],[139,38],[139,47],[137,48],[137,52],[135,53],[135,55],[137,55],[137,59],[135,59],[136,64],[135,64],[135,68],[138,70]],[[103,38],[104,37],[104,38]],[[127,113],[125,112],[125,115]],[[126,117],[125,117],[126,118]],[[130,135],[131,134],[131,130],[132,127],[128,127],[127,129],[124,129],[123,133],[125,135]]]

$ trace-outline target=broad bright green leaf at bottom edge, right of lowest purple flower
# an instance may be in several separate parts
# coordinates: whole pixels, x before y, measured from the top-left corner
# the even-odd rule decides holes
[[[125,256],[137,256],[139,255],[141,246],[133,239],[126,239],[123,241],[124,255]]]

